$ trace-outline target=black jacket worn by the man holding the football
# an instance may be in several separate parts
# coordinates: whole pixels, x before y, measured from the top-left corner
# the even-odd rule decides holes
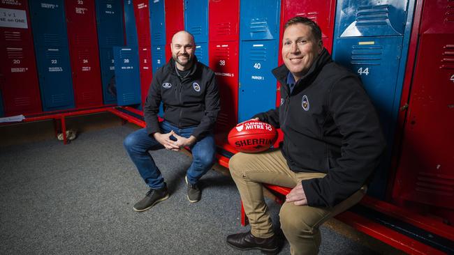
[[[385,148],[379,118],[360,79],[323,52],[292,93],[288,69],[275,68],[281,105],[254,117],[281,127],[281,148],[295,172],[327,173],[302,180],[309,206],[332,207],[360,189]]]

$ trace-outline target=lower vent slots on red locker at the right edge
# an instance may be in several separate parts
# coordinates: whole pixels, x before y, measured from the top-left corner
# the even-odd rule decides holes
[[[454,196],[454,176],[419,172],[415,190],[433,195]]]

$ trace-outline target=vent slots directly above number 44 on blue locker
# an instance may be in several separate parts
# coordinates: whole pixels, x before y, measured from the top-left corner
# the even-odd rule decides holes
[[[383,47],[380,45],[353,45],[351,48],[351,63],[353,65],[381,64]]]

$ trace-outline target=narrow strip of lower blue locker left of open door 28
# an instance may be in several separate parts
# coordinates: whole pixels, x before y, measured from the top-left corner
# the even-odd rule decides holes
[[[99,48],[99,61],[101,66],[101,81],[103,84],[104,104],[116,104],[117,97],[109,91],[109,85],[115,84],[115,60],[112,47]]]

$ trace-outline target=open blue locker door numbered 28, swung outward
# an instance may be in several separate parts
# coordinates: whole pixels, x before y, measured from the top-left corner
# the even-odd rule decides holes
[[[140,104],[140,70],[137,48],[114,47],[118,105]]]

